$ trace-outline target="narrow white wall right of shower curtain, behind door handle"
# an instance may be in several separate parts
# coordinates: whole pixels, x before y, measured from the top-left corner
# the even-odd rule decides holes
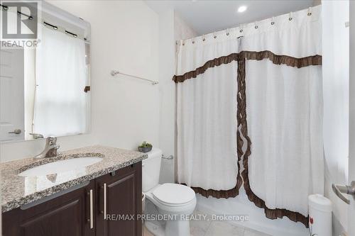
[[[346,203],[332,184],[347,184],[349,161],[349,1],[323,1],[324,196],[333,203],[333,231],[347,227]]]

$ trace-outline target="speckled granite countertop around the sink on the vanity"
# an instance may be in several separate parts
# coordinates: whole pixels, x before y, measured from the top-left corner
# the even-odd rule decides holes
[[[18,176],[24,170],[41,164],[77,157],[102,157],[102,161],[88,167],[80,167],[57,174]],[[1,163],[1,211],[4,213],[18,208],[23,204],[31,203],[98,176],[141,162],[147,157],[141,152],[97,145],[61,152],[57,157],[43,159],[31,157]]]

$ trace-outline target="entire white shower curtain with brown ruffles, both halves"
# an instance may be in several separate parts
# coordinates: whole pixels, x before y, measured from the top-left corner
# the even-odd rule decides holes
[[[231,188],[237,149],[249,200],[268,218],[287,216],[308,225],[307,197],[324,188],[320,10],[179,43],[173,80],[180,183]],[[232,83],[236,77],[238,86]]]

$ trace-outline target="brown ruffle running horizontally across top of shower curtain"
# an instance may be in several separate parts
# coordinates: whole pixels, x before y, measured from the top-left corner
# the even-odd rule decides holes
[[[287,64],[290,67],[307,67],[310,65],[321,65],[322,64],[322,56],[314,55],[309,57],[290,57],[286,55],[275,55],[271,51],[261,51],[261,52],[251,52],[251,51],[241,51],[239,53],[231,53],[228,56],[222,56],[218,58],[214,58],[213,60],[209,60],[204,63],[202,67],[198,67],[195,70],[190,72],[186,72],[182,75],[174,75],[173,81],[175,83],[184,82],[186,79],[196,78],[197,75],[203,74],[208,68],[218,67],[221,64],[229,64],[233,61],[240,60],[263,60],[268,59],[273,62],[273,64]]]

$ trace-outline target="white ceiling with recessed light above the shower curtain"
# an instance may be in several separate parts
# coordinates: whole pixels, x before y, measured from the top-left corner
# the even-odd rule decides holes
[[[157,13],[175,9],[175,12],[198,35],[306,9],[312,6],[313,2],[314,0],[146,1],[148,6]],[[239,13],[239,6],[248,8],[243,13]]]

